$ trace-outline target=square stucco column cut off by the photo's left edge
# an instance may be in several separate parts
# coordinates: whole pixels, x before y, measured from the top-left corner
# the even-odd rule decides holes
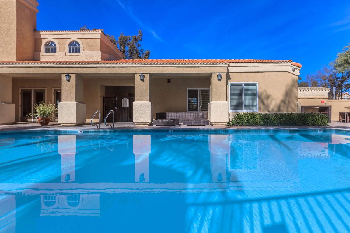
[[[0,75],[0,125],[15,122],[15,104],[12,103],[12,77]]]

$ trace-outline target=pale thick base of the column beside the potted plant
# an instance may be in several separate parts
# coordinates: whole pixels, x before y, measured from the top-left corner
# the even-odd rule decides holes
[[[86,119],[86,104],[78,102],[58,103],[58,123],[61,125],[82,125]]]

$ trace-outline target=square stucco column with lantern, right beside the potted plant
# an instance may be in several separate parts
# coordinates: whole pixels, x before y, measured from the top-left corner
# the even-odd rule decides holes
[[[81,125],[86,119],[86,105],[83,101],[84,80],[77,74],[61,75],[62,101],[58,103],[58,123],[61,125]]]

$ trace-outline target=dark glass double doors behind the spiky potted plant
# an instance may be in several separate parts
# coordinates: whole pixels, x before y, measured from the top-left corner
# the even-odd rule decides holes
[[[27,115],[33,112],[34,104],[45,102],[45,90],[44,89],[20,89],[21,104],[20,104],[20,121],[34,121],[34,117],[27,117]]]

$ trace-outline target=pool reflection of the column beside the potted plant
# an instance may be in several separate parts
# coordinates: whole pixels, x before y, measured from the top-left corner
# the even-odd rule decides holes
[[[75,181],[75,140],[75,135],[58,135],[58,153],[61,154],[61,182]]]

